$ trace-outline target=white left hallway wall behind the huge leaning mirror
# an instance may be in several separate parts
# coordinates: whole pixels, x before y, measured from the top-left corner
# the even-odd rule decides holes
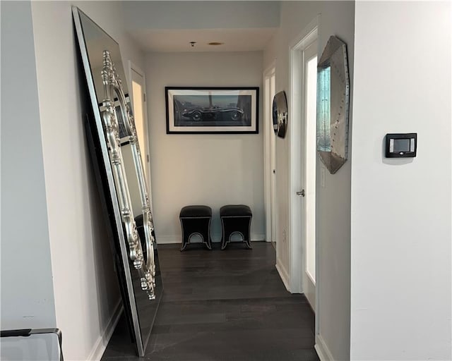
[[[143,66],[142,54],[124,35],[120,2],[76,5],[119,41],[124,63]],[[32,21],[57,326],[66,360],[100,359],[120,295],[85,140],[87,104],[71,3],[33,2]]]

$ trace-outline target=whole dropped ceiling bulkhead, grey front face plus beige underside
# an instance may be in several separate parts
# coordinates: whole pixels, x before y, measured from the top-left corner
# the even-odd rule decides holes
[[[261,51],[280,27],[280,1],[124,1],[123,7],[126,31],[145,52]]]

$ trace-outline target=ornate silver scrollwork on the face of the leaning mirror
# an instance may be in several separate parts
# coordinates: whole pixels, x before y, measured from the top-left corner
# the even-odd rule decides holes
[[[129,245],[129,259],[133,267],[138,271],[140,277],[141,289],[145,291],[150,300],[155,299],[155,261],[154,261],[154,236],[153,236],[153,217],[150,212],[150,201],[148,190],[146,188],[143,162],[141,160],[138,137],[136,135],[135,122],[131,114],[130,106],[126,102],[124,90],[122,89],[121,79],[114,68],[109,51],[103,52],[102,82],[104,84],[105,99],[102,105],[105,111],[102,111],[102,122],[107,138],[110,161],[112,163],[114,183],[117,187],[117,196],[119,207],[121,209],[121,218],[124,222],[126,231],[126,240]],[[136,222],[133,217],[131,207],[131,197],[127,185],[126,170],[121,153],[121,142],[119,140],[119,124],[117,121],[117,110],[114,106],[114,99],[119,102],[119,111],[121,118],[124,119],[124,127],[129,137],[129,144],[133,155],[133,164],[138,179],[138,188],[140,190],[141,208],[143,210],[143,228],[145,234],[145,247],[147,259],[144,259],[141,241],[136,229]]]

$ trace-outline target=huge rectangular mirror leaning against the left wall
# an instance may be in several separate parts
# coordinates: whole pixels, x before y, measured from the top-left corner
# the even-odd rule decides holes
[[[88,144],[131,340],[143,356],[163,290],[140,151],[144,145],[138,144],[119,44],[76,7],[73,18],[93,107],[85,123]]]

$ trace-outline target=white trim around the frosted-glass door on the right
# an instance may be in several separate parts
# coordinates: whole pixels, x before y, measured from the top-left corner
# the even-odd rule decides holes
[[[290,292],[303,293],[303,275],[305,269],[304,259],[304,213],[302,200],[297,192],[302,190],[303,167],[302,154],[304,148],[300,144],[305,131],[304,126],[304,81],[303,81],[303,50],[319,37],[320,16],[304,28],[292,44],[290,44],[290,177],[289,177],[289,202],[290,202]]]

